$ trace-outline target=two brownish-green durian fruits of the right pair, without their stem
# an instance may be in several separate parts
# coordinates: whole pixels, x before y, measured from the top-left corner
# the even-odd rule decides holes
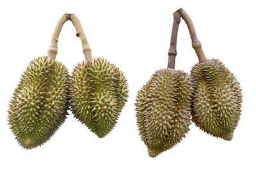
[[[156,71],[136,97],[136,117],[148,155],[156,157],[185,137],[192,121],[207,134],[231,140],[241,115],[239,82],[220,60],[196,64],[191,75]],[[190,115],[191,112],[191,115]]]

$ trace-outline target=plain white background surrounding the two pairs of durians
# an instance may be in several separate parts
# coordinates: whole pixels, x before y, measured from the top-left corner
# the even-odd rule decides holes
[[[241,2],[241,3],[239,3]],[[167,66],[172,13],[182,7],[194,22],[206,57],[220,59],[241,82],[243,108],[232,141],[214,138],[194,124],[179,145],[152,159],[136,125],[136,93]],[[129,99],[115,129],[99,139],[70,113],[42,146],[24,150],[9,129],[12,92],[30,60],[46,55],[64,13],[75,13],[94,57],[124,71]],[[1,1],[0,169],[255,169],[255,46],[253,1]],[[71,22],[60,34],[56,60],[71,72],[81,62],[80,39]],[[198,62],[189,32],[180,23],[176,69]]]

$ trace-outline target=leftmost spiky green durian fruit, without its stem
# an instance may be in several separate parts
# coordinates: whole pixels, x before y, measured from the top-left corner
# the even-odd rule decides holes
[[[42,145],[68,113],[68,71],[47,57],[29,63],[15,89],[8,110],[10,128],[27,149]]]

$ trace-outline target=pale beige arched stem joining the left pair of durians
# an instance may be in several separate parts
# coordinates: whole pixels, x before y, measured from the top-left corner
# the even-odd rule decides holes
[[[54,32],[52,34],[52,39],[51,39],[51,45],[49,47],[49,50],[47,52],[47,56],[49,59],[54,60],[56,58],[56,55],[58,53],[58,39],[60,36],[61,29],[63,27],[63,24],[67,21],[71,20],[72,24],[74,25],[76,29],[76,36],[81,39],[81,43],[83,46],[83,53],[86,61],[91,61],[92,60],[92,50],[89,46],[88,40],[84,34],[83,27],[79,21],[79,19],[76,17],[74,14],[69,14],[66,13],[64,14],[58,23],[56,24],[56,27],[54,29]]]

